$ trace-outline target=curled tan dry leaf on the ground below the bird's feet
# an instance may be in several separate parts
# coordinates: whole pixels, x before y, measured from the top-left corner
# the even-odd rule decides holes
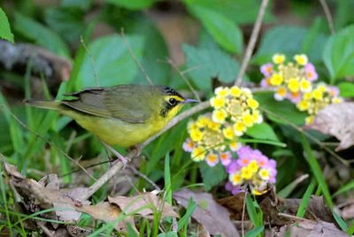
[[[119,206],[126,214],[131,212],[141,215],[142,217],[150,217],[154,211],[162,212],[162,218],[177,218],[179,215],[173,210],[173,207],[165,203],[157,195],[152,193],[144,193],[136,196],[116,196],[108,197],[110,203]]]

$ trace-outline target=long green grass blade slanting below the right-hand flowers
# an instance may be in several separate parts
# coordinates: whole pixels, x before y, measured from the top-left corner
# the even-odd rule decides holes
[[[310,168],[312,170],[312,173],[315,176],[317,182],[319,183],[319,187],[322,190],[322,193],[325,197],[327,205],[329,206],[330,209],[333,209],[334,204],[332,201],[332,197],[329,193],[329,189],[328,189],[325,177],[323,176],[323,173],[319,167],[319,162],[317,161],[316,157],[313,156],[310,143],[309,143],[309,141],[306,140],[306,138],[304,137],[304,134],[301,134],[301,140],[303,143],[304,151],[307,154],[306,161],[308,162],[308,164],[310,164]]]

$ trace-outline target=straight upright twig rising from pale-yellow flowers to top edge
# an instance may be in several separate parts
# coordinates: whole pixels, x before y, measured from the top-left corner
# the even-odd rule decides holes
[[[258,39],[258,34],[260,27],[262,25],[262,20],[263,16],[265,15],[266,12],[266,5],[268,4],[268,0],[263,0],[262,4],[260,5],[259,11],[258,11],[258,16],[256,19],[256,23],[253,27],[252,34],[250,34],[250,42],[247,45],[246,52],[244,54],[243,60],[242,60],[242,65],[240,68],[240,72],[237,75],[237,79],[235,80],[235,86],[240,86],[242,82],[242,77],[244,73],[246,72],[247,65],[250,62],[250,57],[252,56],[253,50],[255,48],[257,39]]]

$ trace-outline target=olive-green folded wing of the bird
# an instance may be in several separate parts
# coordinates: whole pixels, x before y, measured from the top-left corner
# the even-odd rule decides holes
[[[121,119],[129,123],[143,123],[150,118],[153,110],[149,98],[142,96],[140,90],[141,88],[129,86],[88,88],[66,95],[73,96],[74,99],[64,100],[62,103],[74,110],[99,117]]]

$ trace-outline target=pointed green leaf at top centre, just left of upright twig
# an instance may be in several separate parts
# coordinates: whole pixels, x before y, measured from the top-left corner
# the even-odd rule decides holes
[[[242,31],[232,20],[192,1],[187,1],[187,7],[224,50],[241,53]]]

